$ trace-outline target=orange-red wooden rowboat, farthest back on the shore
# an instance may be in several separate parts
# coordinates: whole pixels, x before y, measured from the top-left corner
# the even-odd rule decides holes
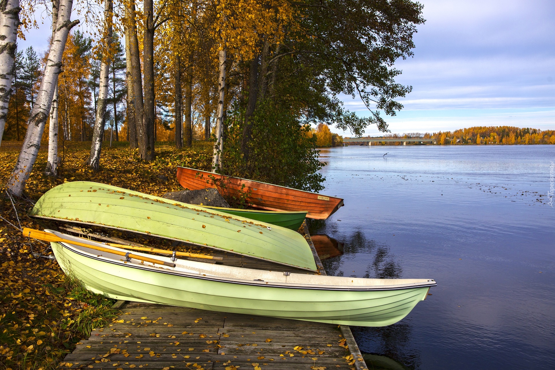
[[[213,174],[187,167],[178,166],[177,179],[185,189],[199,190],[215,187],[230,196],[247,195],[246,202],[255,208],[268,211],[308,211],[306,217],[316,220],[327,219],[344,205],[341,198],[334,196]]]

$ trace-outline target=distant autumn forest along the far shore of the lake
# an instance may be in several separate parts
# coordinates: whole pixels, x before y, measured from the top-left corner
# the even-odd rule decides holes
[[[433,134],[386,134],[383,136],[365,136],[365,138],[436,139],[437,144],[439,145],[555,144],[555,130],[542,131],[539,129],[518,128],[512,126],[476,126],[456,131],[439,131]],[[410,143],[407,143],[407,145],[409,144]],[[387,145],[402,145],[402,140],[387,143]]]

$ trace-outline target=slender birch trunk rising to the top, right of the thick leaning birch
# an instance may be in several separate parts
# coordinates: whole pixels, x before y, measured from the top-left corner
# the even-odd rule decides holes
[[[100,150],[102,149],[102,134],[106,124],[106,105],[108,99],[110,58],[108,45],[112,41],[112,0],[104,1],[104,29],[105,40],[102,52],[102,62],[100,63],[100,78],[98,83],[97,115],[94,121],[94,131],[92,144],[90,145],[90,156],[88,165],[94,170],[98,170],[100,165]]]

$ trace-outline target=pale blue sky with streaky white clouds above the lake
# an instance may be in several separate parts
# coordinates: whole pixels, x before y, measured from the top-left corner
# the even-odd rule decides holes
[[[478,125],[555,129],[554,0],[421,3],[426,23],[415,35],[415,55],[395,65],[403,71],[398,82],[413,90],[400,99],[405,108],[386,117],[393,133]],[[46,19],[19,47],[43,52],[48,30]],[[367,115],[360,99],[341,98]],[[371,126],[366,134],[378,131]]]

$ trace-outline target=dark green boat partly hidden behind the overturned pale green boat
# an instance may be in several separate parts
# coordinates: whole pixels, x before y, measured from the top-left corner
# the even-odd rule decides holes
[[[286,227],[287,229],[297,231],[302,225],[302,221],[305,220],[305,211],[258,211],[258,210],[241,210],[238,208],[224,208],[224,207],[209,207],[204,206],[204,208],[210,208],[214,210],[219,210],[221,212],[229,213],[231,215],[245,217],[246,219],[266,222],[268,224],[273,224],[276,226]]]

